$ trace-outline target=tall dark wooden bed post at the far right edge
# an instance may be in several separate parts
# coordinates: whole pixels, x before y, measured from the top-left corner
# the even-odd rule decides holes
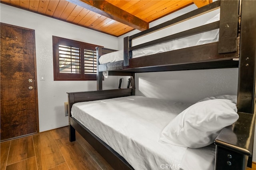
[[[238,112],[254,113],[256,79],[256,1],[242,0]]]

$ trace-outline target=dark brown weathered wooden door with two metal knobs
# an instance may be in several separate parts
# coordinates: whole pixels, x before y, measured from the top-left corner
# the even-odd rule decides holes
[[[34,30],[1,23],[1,140],[38,131]]]

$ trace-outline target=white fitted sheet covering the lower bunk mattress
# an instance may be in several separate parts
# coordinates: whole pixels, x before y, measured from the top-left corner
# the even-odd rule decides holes
[[[158,142],[170,120],[189,106],[129,96],[75,103],[71,113],[136,170],[214,169],[214,146],[191,149]]]

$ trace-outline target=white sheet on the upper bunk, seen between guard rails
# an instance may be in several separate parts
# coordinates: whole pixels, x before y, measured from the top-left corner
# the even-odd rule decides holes
[[[216,22],[220,20],[220,14],[217,14],[205,24]],[[162,53],[166,51],[172,51],[175,49],[182,49],[186,47],[193,47],[196,45],[202,45],[206,43],[218,42],[219,40],[219,29],[204,32],[201,34],[196,34],[193,36],[188,36],[186,38],[180,38],[177,40],[160,43],[157,45],[152,45],[150,47],[145,47],[132,51],[132,58],[142,57],[146,55],[152,55],[156,53]],[[100,64],[112,63],[115,61],[121,61],[124,59],[124,50],[114,51],[112,53],[107,53],[99,58]]]

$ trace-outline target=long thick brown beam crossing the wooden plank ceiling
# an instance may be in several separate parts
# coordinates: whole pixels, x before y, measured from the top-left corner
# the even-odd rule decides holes
[[[105,0],[67,0],[97,14],[106,16],[140,31],[147,30],[148,22],[110,4]]]

